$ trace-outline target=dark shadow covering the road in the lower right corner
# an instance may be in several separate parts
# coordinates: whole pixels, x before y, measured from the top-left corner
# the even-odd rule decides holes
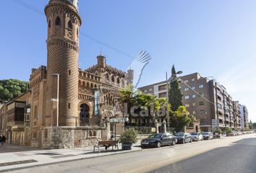
[[[192,148],[191,148],[192,149]],[[188,151],[189,152],[189,151]],[[191,151],[190,151],[191,152]],[[256,138],[244,138],[229,146],[170,164],[151,172],[162,173],[255,173]]]

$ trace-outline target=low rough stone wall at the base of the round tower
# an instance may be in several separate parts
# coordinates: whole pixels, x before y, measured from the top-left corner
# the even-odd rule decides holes
[[[101,141],[102,127],[41,128],[42,148],[75,148],[94,146]]]

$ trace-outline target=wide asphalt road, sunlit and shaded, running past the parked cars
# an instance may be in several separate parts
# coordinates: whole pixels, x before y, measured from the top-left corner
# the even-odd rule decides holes
[[[256,135],[150,148],[127,154],[12,171],[20,172],[255,173]]]

